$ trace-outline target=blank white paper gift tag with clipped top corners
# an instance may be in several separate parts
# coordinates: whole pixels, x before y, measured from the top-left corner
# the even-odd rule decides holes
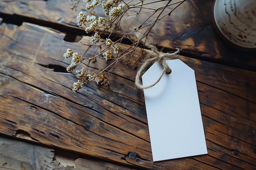
[[[171,74],[144,89],[153,161],[207,154],[195,72],[181,60],[167,60]],[[163,69],[156,62],[142,76],[153,84]]]

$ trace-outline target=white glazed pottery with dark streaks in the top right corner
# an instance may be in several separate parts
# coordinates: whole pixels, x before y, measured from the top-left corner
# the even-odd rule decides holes
[[[215,0],[213,22],[231,44],[256,50],[256,0]]]

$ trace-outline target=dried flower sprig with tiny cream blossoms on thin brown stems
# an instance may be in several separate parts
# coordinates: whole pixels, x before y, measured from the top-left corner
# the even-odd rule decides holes
[[[72,0],[70,0],[72,2]],[[86,68],[77,72],[77,82],[73,84],[73,91],[79,91],[83,84],[88,81],[95,81],[97,84],[108,85],[109,81],[106,74],[111,74],[117,62],[123,57],[127,57],[127,64],[134,64],[138,61],[139,56],[133,56],[135,49],[141,47],[141,54],[145,49],[152,49],[148,44],[148,34],[153,27],[165,16],[170,16],[185,0],[83,0],[83,4],[87,13],[82,11],[77,15],[76,22],[79,27],[85,27],[85,32],[90,33],[90,44],[85,44],[88,49],[80,56],[71,49],[67,49],[64,58],[72,57],[71,64],[67,67],[67,71],[73,71],[79,64],[85,64]],[[72,9],[79,5],[80,0],[73,3]],[[101,8],[103,13],[100,13]],[[98,15],[96,14],[98,13]],[[148,17],[142,17],[148,14]],[[128,17],[135,17],[131,23],[126,24],[126,31],[122,29],[122,22]],[[127,20],[126,20],[127,21]],[[133,28],[131,31],[128,31]],[[106,35],[108,34],[108,35]],[[115,39],[115,41],[114,41]],[[130,40],[129,46],[121,47],[123,40]],[[85,57],[85,54],[93,47],[93,57]],[[154,52],[154,51],[153,51]],[[177,54],[177,51],[174,52]],[[107,62],[107,66],[91,73],[88,72],[90,62],[95,61],[100,56]],[[135,60],[132,61],[133,57]]]

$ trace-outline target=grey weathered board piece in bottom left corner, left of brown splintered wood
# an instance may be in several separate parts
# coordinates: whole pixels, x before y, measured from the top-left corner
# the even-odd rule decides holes
[[[54,150],[0,136],[0,169],[46,169],[53,161],[52,151]]]

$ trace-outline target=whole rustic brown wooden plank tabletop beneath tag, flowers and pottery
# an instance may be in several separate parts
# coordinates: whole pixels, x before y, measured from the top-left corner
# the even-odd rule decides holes
[[[121,61],[110,86],[73,93],[63,53],[83,53],[78,40],[90,40],[74,26],[79,9],[67,0],[0,0],[0,169],[255,170],[256,52],[218,36],[212,5],[187,0],[152,32],[166,51],[183,48],[179,59],[195,70],[208,154],[153,162],[137,69]]]

